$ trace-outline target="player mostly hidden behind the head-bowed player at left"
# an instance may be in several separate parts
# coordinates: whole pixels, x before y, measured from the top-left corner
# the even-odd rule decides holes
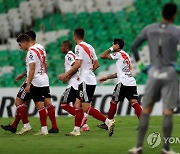
[[[36,34],[35,34],[34,31],[30,30],[30,31],[27,31],[25,34],[27,34],[29,36],[31,45],[33,45],[33,46],[35,46],[37,48],[40,48],[41,50],[43,50],[45,52],[43,46],[41,46],[40,44],[36,43]],[[16,81],[21,80],[25,76],[27,76],[26,71],[21,73],[21,74],[19,74],[16,77]],[[26,80],[24,81],[22,87],[20,88],[20,91],[18,92],[15,104],[16,104],[16,106],[23,105],[26,108],[26,104],[27,104],[27,102],[30,101],[31,96],[30,96],[30,93],[26,93],[24,91],[25,85],[26,85]],[[24,96],[22,97],[21,95],[24,95]],[[49,133],[58,133],[59,129],[57,127],[57,123],[56,123],[56,119],[55,119],[55,110],[54,110],[54,107],[53,107],[53,105],[51,103],[51,98],[45,98],[44,99],[44,104],[45,104],[45,107],[47,109],[47,113],[48,113],[48,116],[50,118],[50,121],[52,123],[52,128],[49,129],[48,132]],[[26,112],[24,111],[24,114],[26,114],[26,116],[27,116],[27,109],[26,109]],[[4,129],[4,130],[7,130],[7,131],[11,131],[12,133],[15,133],[16,130],[17,130],[17,126],[18,126],[20,120],[21,120],[21,118],[20,118],[18,112],[16,112],[16,116],[15,116],[15,119],[14,119],[13,123],[11,125],[1,125],[1,128]],[[25,126],[17,134],[21,135],[21,134],[24,134],[24,133],[28,132],[29,130],[26,129]]]

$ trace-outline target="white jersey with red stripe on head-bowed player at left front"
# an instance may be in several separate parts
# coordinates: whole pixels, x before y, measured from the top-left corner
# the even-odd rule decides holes
[[[32,84],[37,87],[49,86],[49,78],[46,68],[46,51],[40,44],[31,46],[26,55],[26,70],[29,74],[29,64],[35,63],[35,72]]]

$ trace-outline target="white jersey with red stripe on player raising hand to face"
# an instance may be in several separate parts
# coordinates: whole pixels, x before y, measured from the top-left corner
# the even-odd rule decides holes
[[[125,86],[136,86],[136,80],[132,76],[132,64],[129,55],[121,50],[110,54],[112,59],[116,60],[116,71],[118,83]]]

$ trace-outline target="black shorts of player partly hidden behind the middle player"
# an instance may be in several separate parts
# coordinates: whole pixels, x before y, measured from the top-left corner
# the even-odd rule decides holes
[[[61,103],[75,103],[78,90],[75,90],[72,86],[67,88],[61,98]]]

